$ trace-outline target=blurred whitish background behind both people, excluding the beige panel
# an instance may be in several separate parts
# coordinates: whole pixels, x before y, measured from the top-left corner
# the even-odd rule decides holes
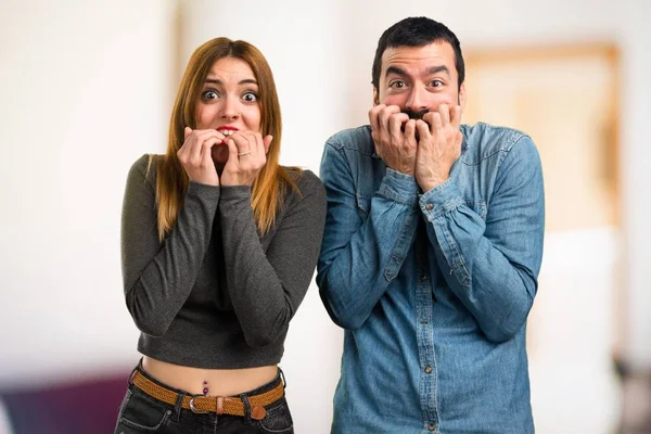
[[[0,388],[137,362],[119,268],[124,184],[140,155],[164,152],[194,48],[227,36],[261,50],[283,112],[281,162],[318,173],[326,139],[367,120],[381,33],[413,15],[448,25],[463,49],[597,41],[620,50],[621,227],[548,232],[531,355],[537,432],[612,432],[620,391],[610,352],[616,344],[651,367],[651,5],[642,0],[2,1]],[[558,111],[572,116],[563,101]],[[625,334],[615,343],[617,328]],[[326,433],[342,332],[316,285],[285,348],[296,432]]]

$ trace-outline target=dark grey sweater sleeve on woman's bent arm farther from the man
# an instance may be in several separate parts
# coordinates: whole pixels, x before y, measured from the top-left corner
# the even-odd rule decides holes
[[[165,334],[186,303],[210,241],[219,187],[190,182],[176,224],[158,241],[155,167],[139,158],[127,178],[122,267],[127,308],[140,331]]]

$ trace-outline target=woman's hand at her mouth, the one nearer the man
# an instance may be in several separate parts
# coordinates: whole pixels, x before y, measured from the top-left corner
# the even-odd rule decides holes
[[[238,131],[229,136],[228,162],[221,174],[222,186],[251,186],[267,163],[267,151],[273,137],[259,132]]]

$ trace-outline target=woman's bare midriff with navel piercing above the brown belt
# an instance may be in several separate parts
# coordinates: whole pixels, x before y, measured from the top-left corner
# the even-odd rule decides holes
[[[193,395],[233,396],[269,383],[278,374],[276,365],[244,369],[202,369],[171,365],[151,357],[142,367],[154,379]]]

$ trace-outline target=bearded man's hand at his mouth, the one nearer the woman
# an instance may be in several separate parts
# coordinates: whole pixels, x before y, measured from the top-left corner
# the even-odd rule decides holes
[[[405,175],[414,175],[416,120],[409,119],[406,113],[400,113],[399,106],[384,104],[375,105],[369,111],[369,120],[375,152],[386,167]]]

